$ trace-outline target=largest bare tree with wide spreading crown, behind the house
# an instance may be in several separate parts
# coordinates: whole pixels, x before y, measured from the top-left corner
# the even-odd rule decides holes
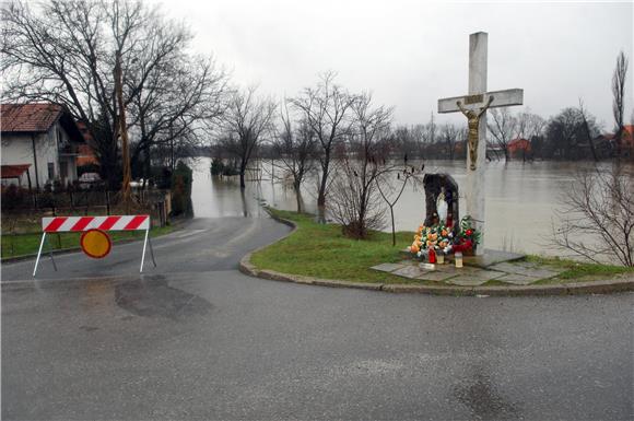
[[[202,104],[224,86],[212,62],[186,54],[190,33],[140,1],[46,0],[32,10],[16,0],[2,5],[2,23],[3,101],[64,105],[86,125],[110,185],[120,177],[117,57],[127,126],[145,155],[153,141],[178,133],[177,120],[189,128],[193,116],[206,118]]]

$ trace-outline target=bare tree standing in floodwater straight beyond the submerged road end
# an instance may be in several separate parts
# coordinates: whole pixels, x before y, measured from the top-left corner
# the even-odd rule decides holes
[[[267,97],[258,97],[256,87],[245,92],[236,90],[228,101],[222,119],[220,143],[239,161],[240,188],[245,188],[245,173],[254,152],[265,136],[271,130],[275,103]]]

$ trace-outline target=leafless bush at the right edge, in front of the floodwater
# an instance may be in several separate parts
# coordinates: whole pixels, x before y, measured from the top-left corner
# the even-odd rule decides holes
[[[591,261],[615,259],[634,266],[634,182],[620,165],[580,173],[557,211],[555,246]]]

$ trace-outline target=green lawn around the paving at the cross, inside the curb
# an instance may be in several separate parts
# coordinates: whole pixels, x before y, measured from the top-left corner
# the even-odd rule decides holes
[[[389,233],[373,232],[369,239],[350,239],[343,236],[339,225],[319,224],[315,222],[313,215],[277,209],[269,209],[269,212],[295,222],[297,231],[255,253],[251,264],[259,269],[351,282],[442,284],[433,281],[413,281],[369,269],[375,265],[402,260],[399,250],[412,243],[413,232],[397,233],[397,245],[392,247]],[[560,277],[542,281],[544,283],[583,281],[597,277],[606,279],[634,270],[536,256],[529,256],[527,259],[566,268]]]

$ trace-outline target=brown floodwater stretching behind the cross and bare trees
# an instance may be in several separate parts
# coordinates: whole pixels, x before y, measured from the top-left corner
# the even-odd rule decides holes
[[[420,167],[421,162],[410,162]],[[552,224],[557,224],[557,209],[574,185],[579,171],[592,167],[588,162],[490,162],[486,164],[486,248],[543,255],[561,255],[549,246]],[[293,189],[281,182],[271,182],[270,162],[260,164],[260,182],[249,182],[239,189],[237,177],[212,177],[210,160],[195,163],[193,213],[200,218],[225,215],[263,217],[262,203],[285,210],[296,210]],[[630,168],[634,169],[634,168]],[[275,169],[275,175],[280,175]],[[461,190],[466,182],[466,165],[461,161],[425,161],[425,173],[450,174],[459,186],[460,212],[466,212]],[[278,177],[275,177],[277,179]],[[306,183],[303,192],[305,209],[316,212],[316,183]],[[422,188],[408,186],[395,207],[397,231],[414,231],[425,219]],[[386,222],[388,222],[386,220]],[[386,231],[390,226],[386,225]]]

